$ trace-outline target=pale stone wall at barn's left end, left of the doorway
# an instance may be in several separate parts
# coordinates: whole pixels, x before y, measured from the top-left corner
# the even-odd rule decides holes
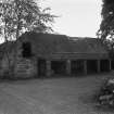
[[[14,52],[9,53],[10,62],[13,64],[14,62]],[[37,58],[23,58],[22,55],[22,43],[18,45],[16,52],[16,63],[14,68],[14,78],[28,78],[35,77],[37,75]],[[0,78],[3,76],[8,76],[9,72],[9,61],[7,55],[3,55],[2,60],[0,60]],[[9,76],[8,76],[9,77]]]

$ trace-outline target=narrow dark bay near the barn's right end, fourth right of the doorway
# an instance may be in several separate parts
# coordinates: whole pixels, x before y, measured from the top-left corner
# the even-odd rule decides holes
[[[101,69],[101,72],[109,72],[110,71],[109,60],[101,60],[100,61],[100,69]]]

